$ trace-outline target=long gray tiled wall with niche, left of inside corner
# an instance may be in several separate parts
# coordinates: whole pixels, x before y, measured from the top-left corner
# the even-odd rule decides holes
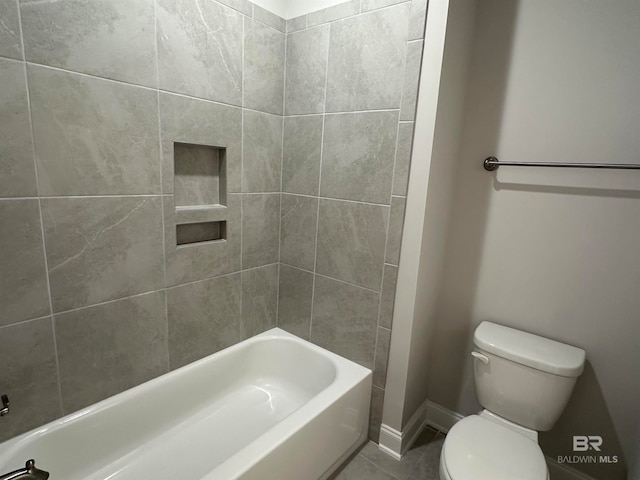
[[[275,326],[286,22],[246,0],[0,18],[3,441]],[[225,148],[226,242],[176,247],[174,142]]]

